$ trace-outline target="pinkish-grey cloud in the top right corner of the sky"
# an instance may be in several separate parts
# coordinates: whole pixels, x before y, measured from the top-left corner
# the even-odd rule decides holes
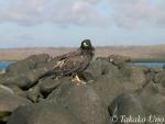
[[[113,20],[118,26],[136,27],[144,24],[165,26],[163,0],[156,4],[152,0],[112,0]]]

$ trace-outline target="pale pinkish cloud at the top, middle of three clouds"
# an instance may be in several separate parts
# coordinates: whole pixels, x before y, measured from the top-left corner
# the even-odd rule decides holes
[[[99,15],[91,2],[74,1],[70,4],[59,4],[54,8],[53,22],[61,24],[76,24],[76,25],[99,25],[101,24],[102,16]],[[62,9],[63,8],[63,9]]]

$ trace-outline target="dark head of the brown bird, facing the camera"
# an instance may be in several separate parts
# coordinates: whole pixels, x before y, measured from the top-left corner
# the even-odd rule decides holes
[[[95,48],[92,47],[90,40],[84,40],[81,42],[80,48],[82,49],[87,49],[87,50],[95,50]]]

